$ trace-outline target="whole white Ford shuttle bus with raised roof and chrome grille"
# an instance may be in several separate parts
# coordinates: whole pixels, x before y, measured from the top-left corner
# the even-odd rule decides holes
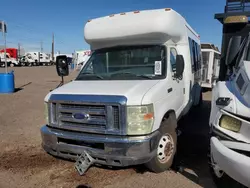
[[[89,20],[84,36],[90,59],[45,98],[43,148],[80,174],[91,163],[167,170],[177,121],[202,101],[199,35],[168,8]]]

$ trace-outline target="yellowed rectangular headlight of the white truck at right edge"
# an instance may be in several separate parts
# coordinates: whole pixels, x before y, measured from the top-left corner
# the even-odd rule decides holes
[[[220,119],[220,126],[224,129],[238,133],[240,132],[241,121],[227,115],[222,115]]]

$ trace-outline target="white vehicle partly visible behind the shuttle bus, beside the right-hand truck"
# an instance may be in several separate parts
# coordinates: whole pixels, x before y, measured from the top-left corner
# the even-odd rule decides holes
[[[202,52],[202,84],[203,88],[211,89],[219,77],[220,51],[213,44],[201,44]]]

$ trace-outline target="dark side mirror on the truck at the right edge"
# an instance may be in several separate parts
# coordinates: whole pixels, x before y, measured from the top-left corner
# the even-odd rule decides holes
[[[241,45],[241,36],[233,36],[227,47],[227,55],[226,55],[226,65],[231,65],[235,58],[237,53],[240,50]]]

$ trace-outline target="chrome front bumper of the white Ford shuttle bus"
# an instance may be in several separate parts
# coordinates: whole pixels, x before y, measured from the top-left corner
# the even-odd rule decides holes
[[[159,132],[147,136],[111,136],[69,132],[43,126],[42,146],[53,156],[76,160],[87,151],[96,163],[130,166],[150,161],[157,150]]]

